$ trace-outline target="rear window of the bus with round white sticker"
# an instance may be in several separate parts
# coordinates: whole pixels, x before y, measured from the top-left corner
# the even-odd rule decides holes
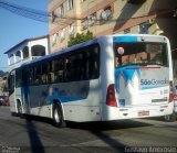
[[[115,67],[127,65],[160,65],[168,67],[166,43],[114,43]]]

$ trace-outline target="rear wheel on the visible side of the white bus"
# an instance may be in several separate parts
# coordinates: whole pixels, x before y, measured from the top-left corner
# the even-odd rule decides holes
[[[53,124],[59,128],[66,127],[61,105],[54,105],[53,107]]]

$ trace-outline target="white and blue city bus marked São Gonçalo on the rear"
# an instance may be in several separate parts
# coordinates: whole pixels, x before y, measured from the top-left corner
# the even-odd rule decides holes
[[[167,37],[105,35],[14,68],[10,110],[53,120],[113,121],[173,112],[173,65]]]

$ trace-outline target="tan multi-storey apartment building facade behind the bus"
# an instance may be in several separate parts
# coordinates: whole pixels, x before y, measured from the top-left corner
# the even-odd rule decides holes
[[[177,48],[177,0],[51,0],[50,48],[67,46],[76,33],[166,35]]]

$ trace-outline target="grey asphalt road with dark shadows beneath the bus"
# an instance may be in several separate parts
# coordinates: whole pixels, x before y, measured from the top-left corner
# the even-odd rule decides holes
[[[0,106],[2,153],[177,152],[177,121],[134,119],[69,123],[58,129],[50,120],[12,117]]]

